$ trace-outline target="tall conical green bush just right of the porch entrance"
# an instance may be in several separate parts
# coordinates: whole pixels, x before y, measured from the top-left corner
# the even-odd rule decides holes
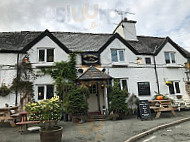
[[[109,100],[111,102],[109,111],[120,115],[128,112],[128,105],[126,103],[127,96],[125,91],[120,90],[118,86],[118,81],[116,81],[109,96]]]

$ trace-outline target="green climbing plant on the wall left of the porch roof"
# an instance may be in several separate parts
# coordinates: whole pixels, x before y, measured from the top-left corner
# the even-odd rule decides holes
[[[64,100],[69,90],[74,88],[73,84],[77,78],[76,54],[69,54],[68,62],[56,62],[55,66],[41,71],[49,74],[54,79],[56,94],[60,96],[60,99]]]

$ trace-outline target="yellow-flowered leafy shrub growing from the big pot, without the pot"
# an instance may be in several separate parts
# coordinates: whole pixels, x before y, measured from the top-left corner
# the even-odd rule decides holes
[[[29,120],[39,120],[44,123],[45,128],[53,127],[51,124],[57,125],[63,113],[63,103],[55,96],[49,100],[42,100],[36,103],[27,103],[25,110],[28,112]],[[46,127],[46,123],[49,123]]]

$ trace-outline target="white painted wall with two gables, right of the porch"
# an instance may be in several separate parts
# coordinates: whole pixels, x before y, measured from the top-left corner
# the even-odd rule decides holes
[[[125,63],[128,67],[114,68],[111,61],[112,48],[125,49]],[[165,51],[175,52],[176,65],[175,68],[168,68],[165,63]],[[154,70],[153,56],[150,55],[135,55],[130,49],[125,47],[118,39],[115,39],[102,53],[101,53],[102,66],[106,68],[106,73],[113,78],[127,78],[129,93],[138,95],[138,82],[150,82],[151,96],[138,96],[140,99],[152,99],[155,92],[158,92],[156,84],[156,75]],[[137,57],[142,58],[141,64],[137,64]],[[151,65],[145,64],[145,58],[151,58]],[[156,56],[156,64],[158,71],[158,79],[160,86],[160,93],[168,94],[168,86],[165,85],[166,80],[180,81],[180,91],[183,98],[189,98],[185,91],[185,69],[184,63],[186,58],[183,57],[170,43],[167,43],[160,53]],[[170,95],[176,99],[175,95]]]

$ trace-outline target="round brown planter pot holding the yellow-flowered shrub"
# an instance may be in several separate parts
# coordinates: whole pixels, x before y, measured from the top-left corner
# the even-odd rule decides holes
[[[63,127],[56,126],[52,130],[40,130],[41,142],[61,142]]]

